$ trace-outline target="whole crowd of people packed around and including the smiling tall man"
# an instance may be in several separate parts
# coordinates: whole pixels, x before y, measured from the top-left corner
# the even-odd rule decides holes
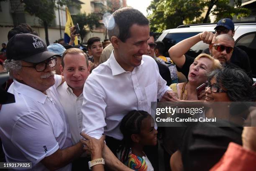
[[[0,108],[1,162],[31,162],[35,171],[158,171],[162,146],[166,171],[253,170],[256,127],[241,125],[256,119],[255,103],[241,125],[152,125],[151,102],[256,101],[248,56],[234,46],[232,20],[221,19],[215,34],[180,41],[166,57],[140,11],[122,8],[113,19],[110,40],[92,37],[87,49],[73,46],[79,36],[74,27],[69,43],[49,46],[26,24],[9,31],[0,72],[13,79],[3,89],[15,102]],[[186,52],[199,41],[209,49],[194,59]],[[226,119],[220,116],[225,110],[229,106],[201,115]]]

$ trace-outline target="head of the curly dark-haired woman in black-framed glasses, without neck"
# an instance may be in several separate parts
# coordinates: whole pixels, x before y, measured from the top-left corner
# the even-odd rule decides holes
[[[229,67],[212,71],[205,87],[205,101],[252,102],[256,100],[255,87],[247,74]]]

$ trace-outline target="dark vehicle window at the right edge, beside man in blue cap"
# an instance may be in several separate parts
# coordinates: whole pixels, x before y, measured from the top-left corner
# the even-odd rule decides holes
[[[253,77],[256,78],[256,67],[254,66],[256,64],[256,32],[247,33],[241,36],[236,41],[235,46],[246,51],[250,59]]]

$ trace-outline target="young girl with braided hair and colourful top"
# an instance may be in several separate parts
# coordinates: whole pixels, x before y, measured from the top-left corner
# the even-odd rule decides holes
[[[129,112],[121,121],[120,130],[123,133],[123,146],[118,157],[129,168],[135,171],[154,171],[146,154],[144,145],[156,145],[157,130],[151,126],[153,118],[142,110]]]

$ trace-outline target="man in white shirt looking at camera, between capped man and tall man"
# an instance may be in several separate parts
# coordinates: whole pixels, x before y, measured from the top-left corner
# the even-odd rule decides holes
[[[62,55],[61,75],[65,82],[57,87],[59,101],[67,115],[73,145],[81,139],[84,82],[90,74],[87,55],[79,48],[69,48]],[[81,157],[72,163],[72,170],[87,170],[88,161]]]

